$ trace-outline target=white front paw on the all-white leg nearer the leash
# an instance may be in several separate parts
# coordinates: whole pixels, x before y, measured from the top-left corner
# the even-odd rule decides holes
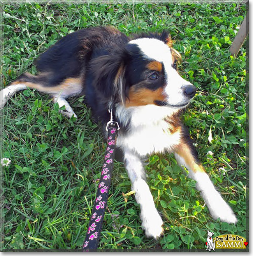
[[[157,210],[141,214],[142,228],[145,230],[147,237],[158,239],[163,233],[163,221]]]

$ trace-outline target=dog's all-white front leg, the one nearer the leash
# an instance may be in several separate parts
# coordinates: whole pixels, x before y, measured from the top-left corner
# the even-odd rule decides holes
[[[137,154],[130,150],[124,151],[125,167],[135,191],[135,199],[140,204],[142,228],[147,237],[158,238],[163,233],[162,218],[158,214],[153,197],[145,181],[145,172]]]

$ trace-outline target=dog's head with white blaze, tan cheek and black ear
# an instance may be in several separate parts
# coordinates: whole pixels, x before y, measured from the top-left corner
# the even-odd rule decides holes
[[[180,58],[168,33],[142,35],[95,60],[94,85],[125,108],[155,105],[174,112],[187,106],[196,92],[177,72]]]

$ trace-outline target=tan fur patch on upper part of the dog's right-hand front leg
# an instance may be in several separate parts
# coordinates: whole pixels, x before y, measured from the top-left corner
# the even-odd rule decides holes
[[[179,147],[175,150],[175,152],[184,159],[185,163],[187,166],[189,166],[189,168],[197,173],[197,172],[206,172],[204,167],[202,166],[202,164],[197,164],[190,148],[185,145],[185,144],[181,144],[179,145]]]

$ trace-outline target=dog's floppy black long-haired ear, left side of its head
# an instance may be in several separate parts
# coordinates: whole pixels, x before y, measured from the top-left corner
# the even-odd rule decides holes
[[[107,55],[99,56],[91,62],[93,85],[105,98],[125,102],[126,51],[116,48],[108,50]]]

